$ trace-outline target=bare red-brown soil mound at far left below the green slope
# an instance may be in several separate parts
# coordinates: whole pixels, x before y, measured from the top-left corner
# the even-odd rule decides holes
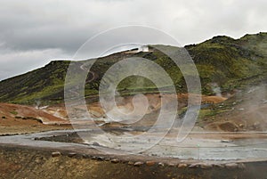
[[[68,121],[57,118],[43,110],[11,103],[0,103],[0,134],[21,134],[55,129]],[[61,124],[61,126],[59,126]]]

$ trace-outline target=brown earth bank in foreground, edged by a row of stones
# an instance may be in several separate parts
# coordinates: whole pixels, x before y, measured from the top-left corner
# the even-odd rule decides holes
[[[166,164],[68,151],[0,147],[0,178],[265,178],[266,162]]]

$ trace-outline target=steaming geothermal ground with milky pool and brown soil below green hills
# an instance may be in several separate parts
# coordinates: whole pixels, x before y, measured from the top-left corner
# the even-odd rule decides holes
[[[63,105],[36,108],[1,103],[0,178],[265,178],[265,116],[252,118],[255,111],[266,111],[262,99],[258,100],[261,105],[249,110],[244,110],[247,103],[235,99],[235,109],[229,110],[226,97],[202,96],[205,111],[222,106],[219,116],[207,115],[207,120],[200,113],[197,126],[182,142],[177,141],[179,128],[157,142],[162,128],[153,134],[147,129],[158,115],[160,97],[147,97],[150,109],[141,123],[112,122],[95,102],[88,105],[92,127],[76,130]],[[178,97],[179,110],[184,110],[187,94]],[[174,100],[171,95],[168,99]],[[133,110],[131,102],[132,97],[125,97],[118,106]],[[77,110],[81,109],[77,106]],[[139,134],[146,135],[139,142],[131,140]],[[118,141],[110,142],[110,136]],[[129,154],[132,149],[137,151]]]

